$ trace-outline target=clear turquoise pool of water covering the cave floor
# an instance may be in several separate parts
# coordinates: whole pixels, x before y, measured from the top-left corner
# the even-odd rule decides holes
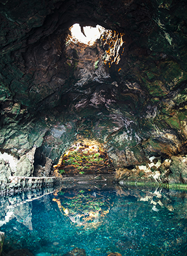
[[[187,192],[118,186],[1,197],[3,250],[59,256],[187,255]]]

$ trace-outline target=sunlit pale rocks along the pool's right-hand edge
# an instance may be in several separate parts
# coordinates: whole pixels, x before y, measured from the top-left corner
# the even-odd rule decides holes
[[[187,184],[187,157],[173,156],[171,159],[150,157],[146,165],[135,165],[132,169],[119,168],[116,179],[120,184],[137,182],[147,184]]]

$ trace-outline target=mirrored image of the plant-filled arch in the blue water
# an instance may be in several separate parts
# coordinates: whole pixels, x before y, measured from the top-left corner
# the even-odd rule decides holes
[[[112,205],[113,193],[111,191],[74,190],[69,192],[62,190],[53,201],[57,203],[60,212],[67,215],[71,222],[81,225],[86,229],[97,228],[102,224],[105,215]],[[57,192],[55,192],[55,197]]]

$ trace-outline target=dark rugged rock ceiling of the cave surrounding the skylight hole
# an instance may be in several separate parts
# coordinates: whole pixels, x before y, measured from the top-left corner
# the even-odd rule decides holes
[[[186,1],[0,1],[0,147],[58,159],[76,135],[114,166],[186,154]],[[105,27],[93,46],[69,27]]]

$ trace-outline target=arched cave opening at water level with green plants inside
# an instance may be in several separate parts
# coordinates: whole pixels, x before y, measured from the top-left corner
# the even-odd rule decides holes
[[[114,172],[112,160],[95,140],[77,140],[54,165],[54,175],[108,174]]]

